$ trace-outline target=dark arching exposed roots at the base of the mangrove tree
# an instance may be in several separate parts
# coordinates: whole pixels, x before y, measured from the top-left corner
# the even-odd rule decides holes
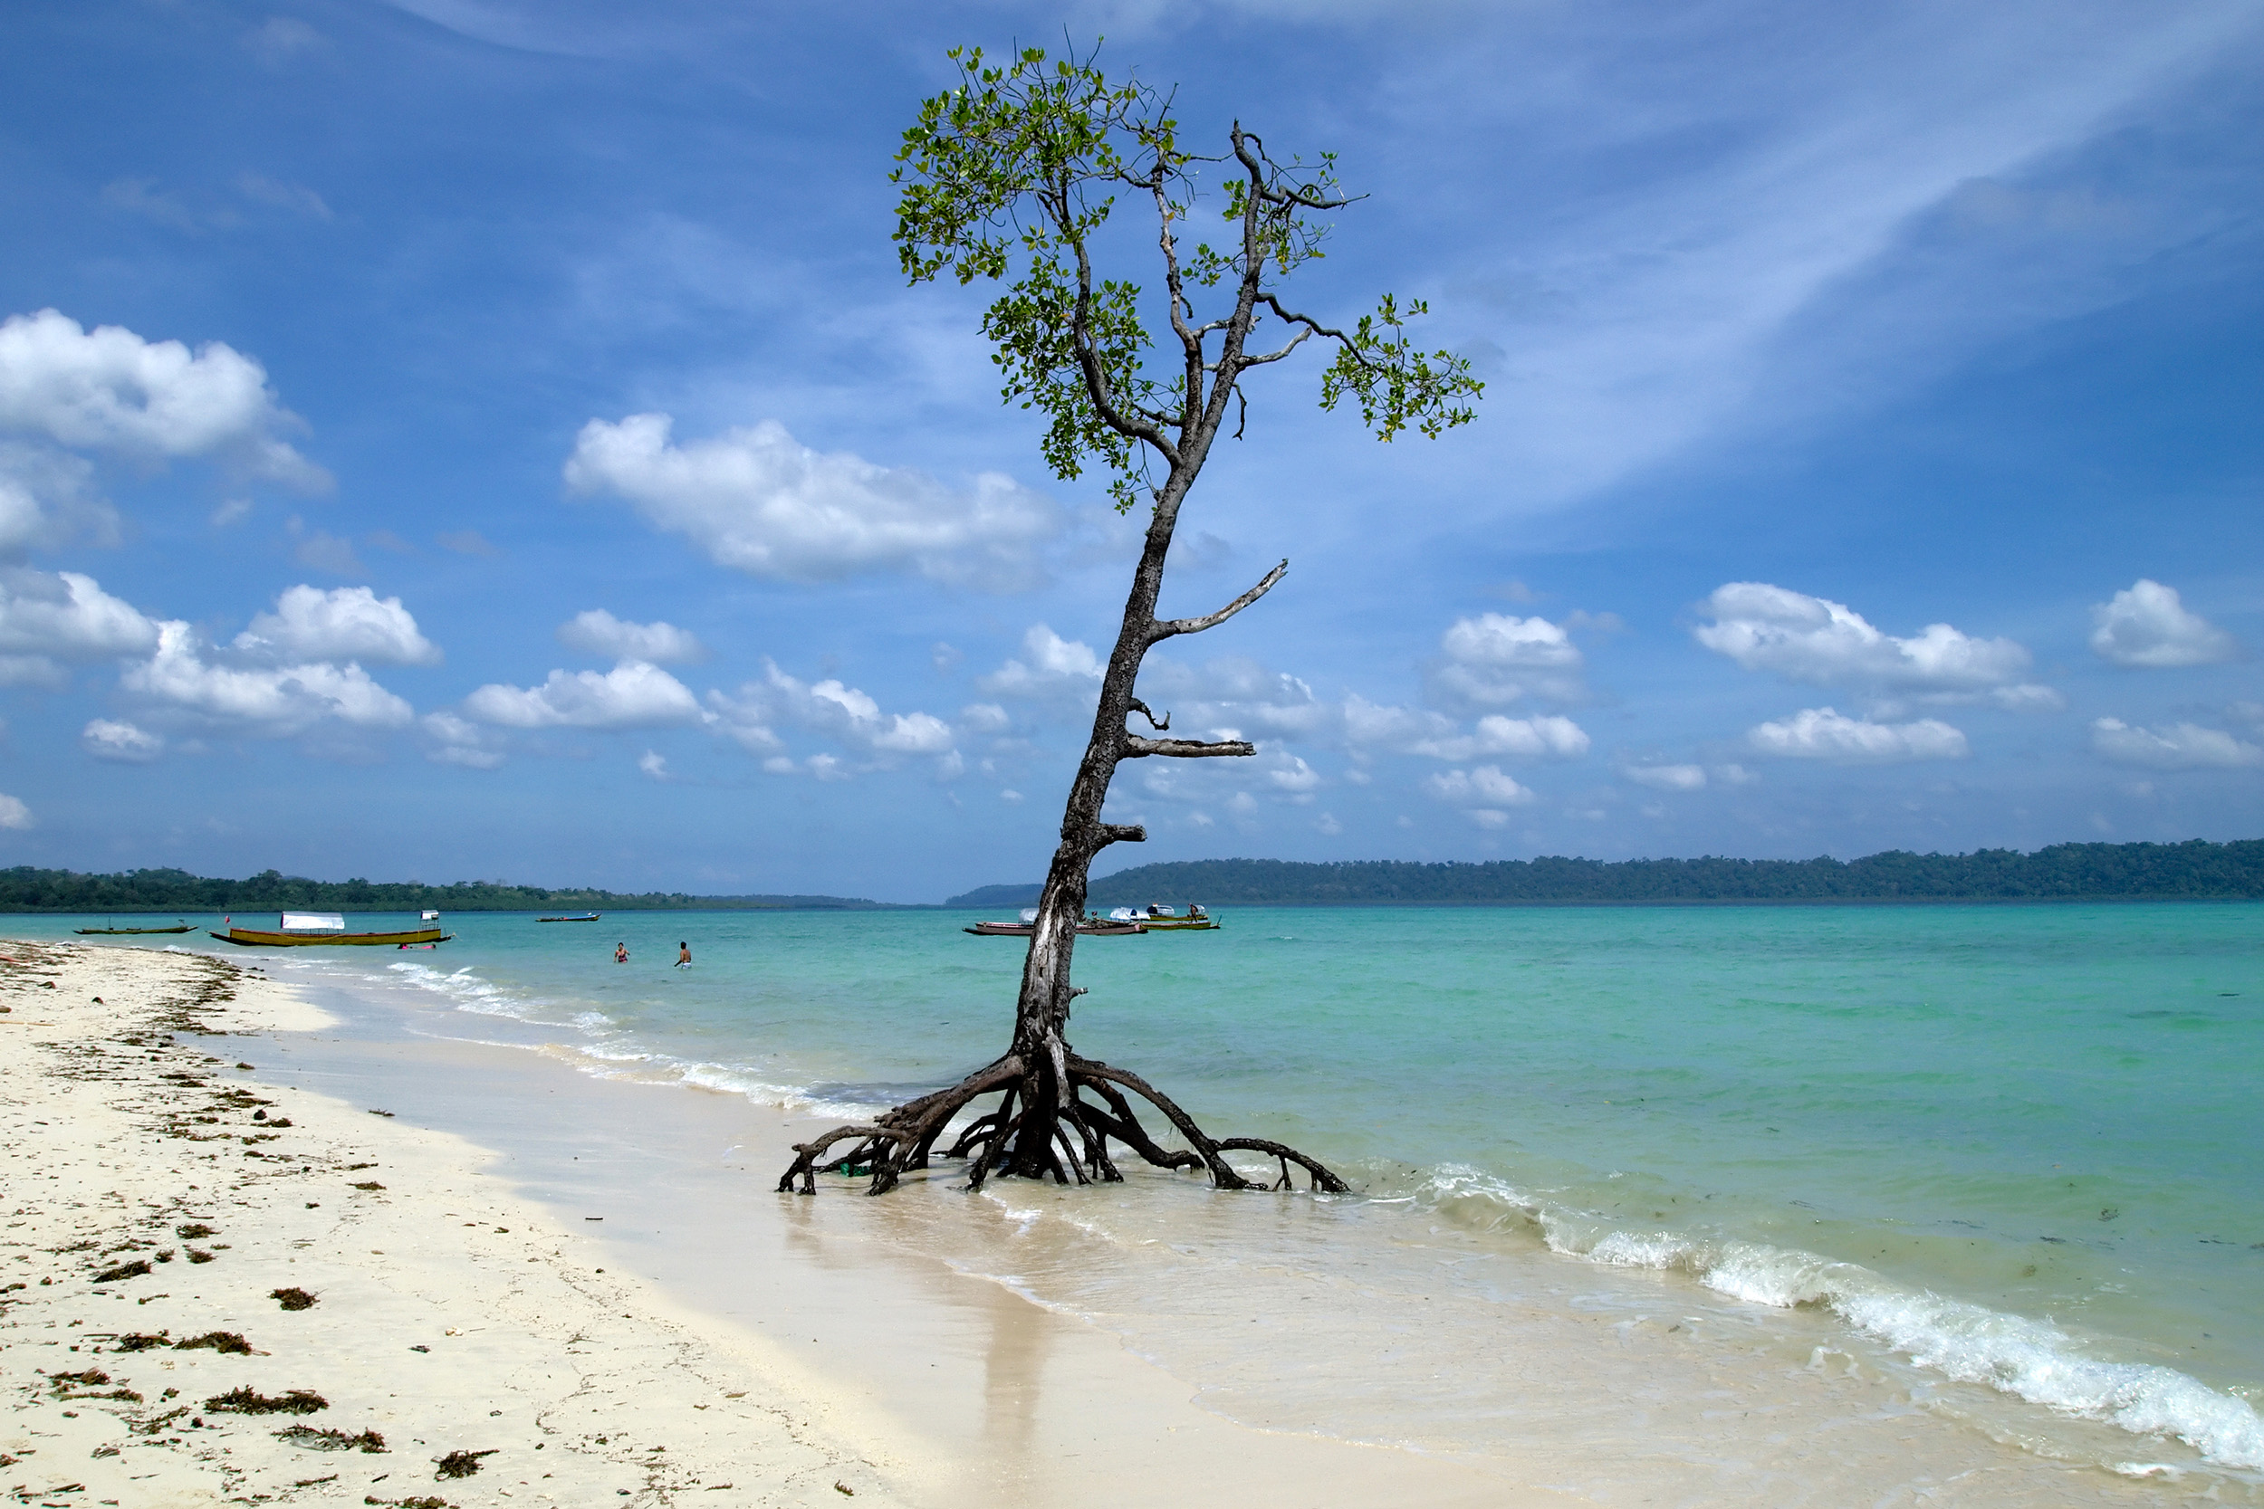
[[[1311,1190],[1327,1195],[1349,1190],[1318,1158],[1284,1142],[1209,1136],[1168,1095],[1130,1070],[1075,1054],[1039,1061],[1037,1068],[1039,1072],[1030,1072],[1021,1054],[1005,1054],[949,1090],[908,1100],[867,1124],[835,1127],[811,1142],[795,1142],[795,1161],[779,1176],[779,1192],[815,1195],[817,1174],[869,1172],[872,1183],[865,1192],[887,1195],[903,1174],[926,1170],[931,1158],[964,1158],[969,1190],[983,1188],[985,1179],[996,1174],[1053,1179],[1062,1185],[1123,1183],[1109,1158],[1112,1140],[1155,1167],[1204,1170],[1220,1190],[1290,1190],[1295,1188],[1290,1165],[1306,1172]],[[1057,1093],[1048,1095],[1048,1088]],[[937,1152],[935,1145],[953,1118],[985,1095],[998,1095],[998,1104],[960,1127],[951,1145]],[[1148,1136],[1132,1109],[1132,1095],[1155,1106],[1189,1147],[1164,1147]],[[1227,1152],[1266,1154],[1281,1176],[1268,1183],[1252,1181],[1225,1161]]]

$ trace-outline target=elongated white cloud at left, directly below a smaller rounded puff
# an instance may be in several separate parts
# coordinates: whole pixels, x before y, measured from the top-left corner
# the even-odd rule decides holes
[[[360,665],[222,665],[183,622],[158,624],[156,652],[118,679],[118,685],[158,706],[245,733],[283,738],[321,722],[353,728],[398,728],[414,719],[403,699],[369,679]]]

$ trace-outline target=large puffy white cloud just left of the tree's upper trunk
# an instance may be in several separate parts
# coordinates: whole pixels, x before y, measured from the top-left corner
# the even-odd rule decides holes
[[[1037,550],[1064,511],[1012,477],[953,489],[921,471],[824,455],[763,421],[677,443],[668,414],[582,425],[566,459],[575,493],[625,498],[720,566],[781,581],[915,572],[985,590],[1044,579]]]

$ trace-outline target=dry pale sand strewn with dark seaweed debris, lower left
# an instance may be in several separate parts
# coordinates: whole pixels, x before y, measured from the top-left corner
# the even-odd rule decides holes
[[[471,1145],[263,1086],[229,1034],[321,1018],[256,968],[0,957],[9,1502],[892,1502]]]

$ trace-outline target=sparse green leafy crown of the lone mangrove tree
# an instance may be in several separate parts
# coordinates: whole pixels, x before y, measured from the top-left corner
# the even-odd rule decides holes
[[[1050,421],[1044,455],[1055,475],[1073,480],[1098,464],[1118,509],[1159,495],[1157,466],[1184,489],[1238,403],[1241,376],[1311,337],[1336,346],[1320,405],[1352,398],[1377,439],[1408,428],[1435,439],[1469,423],[1485,385],[1465,357],[1415,348],[1406,326],[1429,312],[1424,301],[1386,294],[1352,330],[1281,303],[1288,276],[1322,256],[1322,217],[1352,204],[1338,192],[1333,154],[1277,163],[1241,124],[1227,154],[1186,152],[1170,100],[1139,79],[1112,84],[1091,54],[1048,61],[1026,48],[989,63],[980,48],[953,48],[949,57],[960,84],[919,106],[890,174],[901,186],[897,251],[912,283],[1007,281],[983,335],[1005,378],[1001,398]],[[1182,249],[1202,163],[1223,165],[1220,217],[1234,235]],[[1096,271],[1096,242],[1121,195],[1146,199],[1157,217],[1170,330],[1161,355],[1141,285]],[[1195,310],[1202,290],[1216,290],[1207,319]],[[1252,351],[1268,321],[1277,344]]]

